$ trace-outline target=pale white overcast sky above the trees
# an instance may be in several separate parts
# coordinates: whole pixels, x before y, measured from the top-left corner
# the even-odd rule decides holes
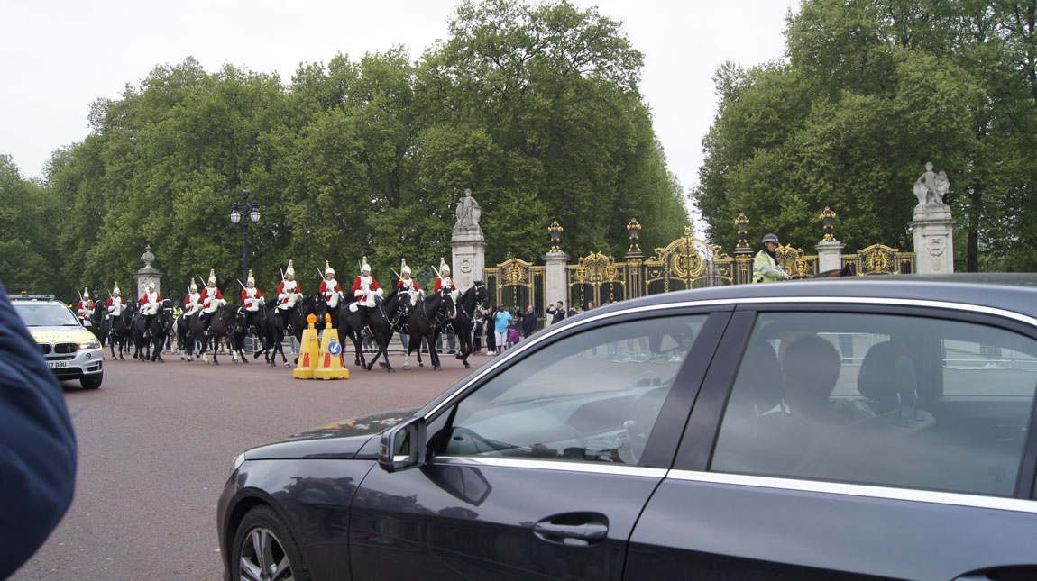
[[[447,35],[456,0],[357,2],[180,0],[6,2],[0,34],[0,154],[23,177],[40,176],[51,152],[82,141],[97,97],[139,87],[158,64],[195,57],[277,72],[301,62],[405,45],[412,59]],[[724,61],[753,65],[784,54],[782,30],[798,0],[576,0],[624,23],[645,55],[641,90],[669,167],[685,191],[698,182],[702,137],[717,113],[712,76]],[[472,188],[478,191],[478,184]],[[645,225],[650,227],[649,225]]]

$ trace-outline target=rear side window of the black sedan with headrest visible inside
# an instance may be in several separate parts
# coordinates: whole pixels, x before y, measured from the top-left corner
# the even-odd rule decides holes
[[[710,469],[1012,495],[1037,342],[975,323],[758,317]]]

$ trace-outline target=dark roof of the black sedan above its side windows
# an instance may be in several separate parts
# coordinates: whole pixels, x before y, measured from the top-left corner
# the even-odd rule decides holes
[[[780,283],[730,285],[653,294],[624,300],[573,317],[600,315],[637,307],[785,297],[868,297],[943,300],[980,304],[1037,318],[1037,273],[897,274],[812,279]]]

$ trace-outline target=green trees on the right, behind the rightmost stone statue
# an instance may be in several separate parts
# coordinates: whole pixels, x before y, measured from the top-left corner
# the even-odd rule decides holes
[[[912,185],[946,171],[957,268],[1037,268],[1037,3],[805,0],[787,59],[722,66],[693,192],[707,234],[812,249],[818,214],[857,250],[909,250]]]

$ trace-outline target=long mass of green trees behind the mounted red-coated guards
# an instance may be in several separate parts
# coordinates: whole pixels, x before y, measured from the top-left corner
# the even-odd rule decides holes
[[[264,288],[289,259],[308,291],[325,260],[340,279],[362,256],[383,279],[401,258],[438,265],[466,188],[488,264],[538,259],[553,220],[573,255],[622,255],[632,217],[661,245],[689,219],[641,67],[619,23],[562,0],[465,2],[417,61],[402,48],[339,54],[288,83],[193,58],[156,66],[93,104],[89,135],[55,152],[44,182],[0,158],[13,200],[0,249],[27,250],[3,253],[3,277],[71,296],[134,288],[150,244],[173,294],[209,268],[236,288],[242,229],[228,216],[243,188],[260,206],[249,265]]]

